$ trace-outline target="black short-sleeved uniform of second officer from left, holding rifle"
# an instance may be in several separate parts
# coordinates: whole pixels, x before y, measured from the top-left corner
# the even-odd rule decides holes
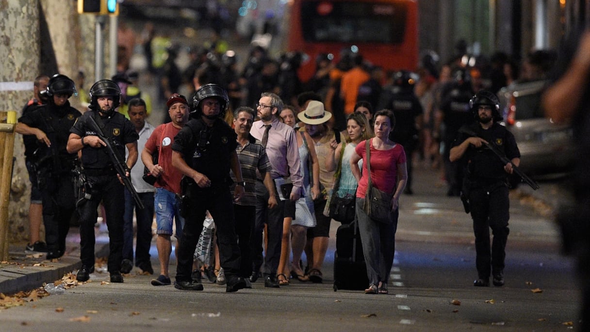
[[[89,125],[89,117],[94,118],[105,136],[112,138],[113,147],[117,149],[119,156],[125,156],[126,144],[136,142],[139,138],[131,121],[116,111],[111,112],[110,116],[100,116],[97,111],[87,111],[78,119],[70,132],[82,138],[96,135],[96,131]],[[123,259],[124,186],[119,182],[106,147],[95,148],[87,145],[83,147],[81,153],[81,164],[88,190],[86,197],[81,198],[77,203],[78,212],[80,212],[82,266],[89,269],[94,266],[94,223],[96,223],[97,208],[102,200],[109,229],[109,272],[120,271]]]

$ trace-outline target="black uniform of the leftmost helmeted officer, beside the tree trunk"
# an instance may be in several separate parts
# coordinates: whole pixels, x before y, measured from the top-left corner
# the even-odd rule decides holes
[[[28,112],[18,121],[42,130],[51,142],[35,143],[35,153],[27,160],[35,165],[34,177],[41,190],[45,241],[50,258],[61,257],[65,252],[65,237],[70,229],[70,219],[76,208],[72,170],[76,155],[67,152],[70,128],[82,114],[66,102],[58,107],[45,104]],[[33,136],[34,137],[34,136]]]

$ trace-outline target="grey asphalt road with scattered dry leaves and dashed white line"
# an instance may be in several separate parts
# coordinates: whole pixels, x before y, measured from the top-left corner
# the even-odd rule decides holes
[[[293,280],[271,289],[257,281],[253,289],[236,293],[205,284],[204,291],[190,292],[153,287],[154,276],[135,270],[123,284],[104,283],[108,274],[95,272],[91,282],[62,295],[0,310],[0,330],[565,331],[578,326],[573,262],[559,254],[550,217],[512,193],[506,285],[473,287],[470,219],[457,198],[444,195],[437,174],[418,167],[415,194],[401,199],[389,295],[333,291],[333,223],[323,284]],[[72,233],[75,242],[75,229]],[[99,230],[97,235],[101,246],[107,237]],[[155,242],[152,264],[158,271]],[[174,266],[172,261],[172,276]]]

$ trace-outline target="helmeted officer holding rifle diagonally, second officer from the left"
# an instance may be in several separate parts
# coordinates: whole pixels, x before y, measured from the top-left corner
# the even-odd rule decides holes
[[[124,187],[118,179],[103,140],[90,125],[90,117],[111,139],[119,156],[129,151],[126,165],[132,169],[137,161],[138,135],[133,124],[115,111],[119,106],[121,90],[111,80],[100,80],[90,88],[90,111],[76,121],[70,130],[68,152],[81,150],[83,174],[86,176],[84,197],[77,202],[80,213],[80,259],[82,267],[76,276],[78,281],[87,281],[94,271],[94,223],[100,201],[103,201],[109,228],[109,264],[111,282],[123,282],[121,262],[123,259],[123,212],[125,204]],[[129,172],[126,174],[129,176]]]

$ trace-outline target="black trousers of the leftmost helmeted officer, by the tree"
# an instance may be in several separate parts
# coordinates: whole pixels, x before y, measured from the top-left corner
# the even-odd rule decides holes
[[[65,251],[65,237],[70,219],[76,211],[74,184],[71,175],[51,176],[41,189],[45,241],[50,252]]]

